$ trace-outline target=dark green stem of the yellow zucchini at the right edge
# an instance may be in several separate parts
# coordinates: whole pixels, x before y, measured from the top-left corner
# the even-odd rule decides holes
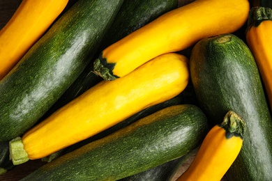
[[[272,20],[272,9],[265,7],[254,7],[248,15],[248,27],[259,26],[264,20]]]

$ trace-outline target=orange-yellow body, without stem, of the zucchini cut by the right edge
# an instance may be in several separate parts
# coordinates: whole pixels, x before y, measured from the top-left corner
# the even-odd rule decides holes
[[[272,20],[265,20],[257,27],[251,26],[246,33],[246,40],[259,68],[272,108]]]

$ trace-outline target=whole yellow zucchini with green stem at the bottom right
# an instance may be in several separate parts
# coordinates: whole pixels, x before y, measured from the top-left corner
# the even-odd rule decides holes
[[[245,129],[243,118],[228,111],[223,122],[206,135],[192,164],[177,181],[221,180],[239,155]]]

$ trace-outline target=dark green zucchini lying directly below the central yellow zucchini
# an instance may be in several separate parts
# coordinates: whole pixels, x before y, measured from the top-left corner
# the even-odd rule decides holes
[[[176,105],[53,160],[23,180],[119,180],[196,148],[208,132],[196,106]]]

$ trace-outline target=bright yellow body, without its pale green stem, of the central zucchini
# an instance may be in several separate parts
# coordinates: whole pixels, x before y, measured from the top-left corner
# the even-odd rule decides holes
[[[188,58],[164,54],[114,81],[102,81],[24,134],[29,159],[82,141],[186,88]]]

